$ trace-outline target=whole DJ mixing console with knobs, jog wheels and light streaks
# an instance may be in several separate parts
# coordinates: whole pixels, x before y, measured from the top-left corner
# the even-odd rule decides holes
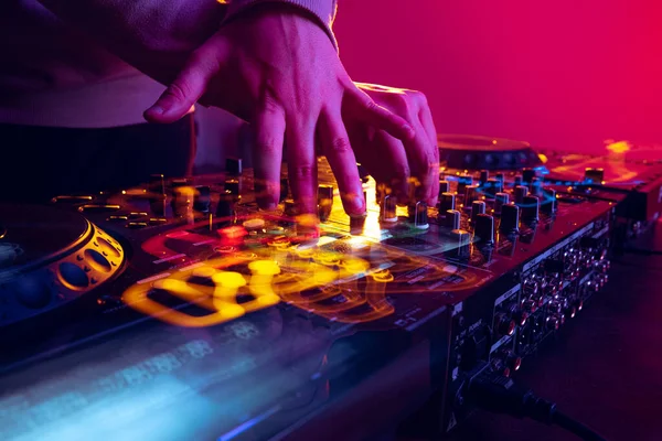
[[[0,438],[370,439],[424,406],[452,430],[467,381],[514,375],[607,282],[627,195],[525,143],[440,149],[438,206],[360,166],[360,217],[324,159],[312,217],[285,171],[259,211],[238,159],[0,205]]]

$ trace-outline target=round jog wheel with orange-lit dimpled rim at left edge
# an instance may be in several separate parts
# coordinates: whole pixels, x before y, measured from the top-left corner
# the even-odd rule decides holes
[[[78,213],[0,205],[0,326],[70,303],[122,268],[120,244]]]

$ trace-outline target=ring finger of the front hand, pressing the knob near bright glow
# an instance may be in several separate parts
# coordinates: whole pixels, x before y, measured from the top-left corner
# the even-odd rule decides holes
[[[318,127],[322,151],[335,175],[345,212],[350,216],[365,214],[365,200],[356,168],[356,158],[352,151],[342,117],[330,115],[328,110],[322,111]]]

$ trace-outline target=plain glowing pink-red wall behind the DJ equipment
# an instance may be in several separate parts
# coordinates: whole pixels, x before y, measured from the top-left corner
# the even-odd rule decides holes
[[[439,132],[662,144],[662,2],[340,0],[355,80],[423,90]]]

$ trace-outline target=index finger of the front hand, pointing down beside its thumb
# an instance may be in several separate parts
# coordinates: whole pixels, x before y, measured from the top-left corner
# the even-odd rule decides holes
[[[253,163],[257,204],[275,209],[280,195],[280,163],[285,137],[285,114],[274,101],[266,100],[253,121]]]

